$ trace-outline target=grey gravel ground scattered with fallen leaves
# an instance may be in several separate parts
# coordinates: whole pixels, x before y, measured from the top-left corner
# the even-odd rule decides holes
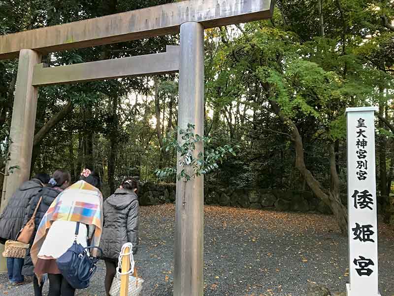
[[[146,279],[142,295],[172,295],[174,217],[170,204],[141,207],[135,261]],[[394,231],[380,223],[382,296],[394,296],[393,255]],[[332,216],[205,207],[205,296],[305,296],[308,281],[344,292],[347,256],[347,239]],[[77,295],[104,296],[104,270],[100,263]],[[33,287],[10,287],[1,274],[0,295],[31,296]]]

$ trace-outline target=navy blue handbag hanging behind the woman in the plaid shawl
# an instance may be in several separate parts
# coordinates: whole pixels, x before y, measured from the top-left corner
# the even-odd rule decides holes
[[[75,240],[65,254],[60,256],[56,263],[62,275],[74,289],[85,289],[89,286],[89,281],[97,269],[97,261],[102,256],[102,250],[98,247],[86,247],[77,243],[79,222],[75,228]],[[86,249],[99,249],[100,257],[90,257]]]

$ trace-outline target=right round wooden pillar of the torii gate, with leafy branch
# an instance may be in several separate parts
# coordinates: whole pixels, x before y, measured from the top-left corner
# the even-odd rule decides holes
[[[187,22],[180,28],[178,126],[195,124],[204,134],[204,28]],[[178,141],[180,141],[178,136]],[[203,152],[196,143],[194,156]],[[178,164],[178,172],[181,168]],[[176,182],[176,226],[174,244],[174,296],[201,296],[204,249],[204,179]]]

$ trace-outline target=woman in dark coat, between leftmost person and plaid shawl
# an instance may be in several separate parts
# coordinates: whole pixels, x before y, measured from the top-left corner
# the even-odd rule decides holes
[[[33,212],[40,200],[41,202],[38,206],[37,213],[35,214],[34,219],[34,232],[30,241],[30,246],[33,245],[35,233],[37,232],[38,225],[40,224],[42,217],[44,217],[46,211],[49,206],[55,200],[55,198],[66,189],[71,184],[71,176],[66,170],[57,170],[53,173],[52,178],[49,180],[49,184],[46,187],[41,188],[37,194],[33,196],[29,203],[29,207],[27,210],[27,214],[25,216],[24,224],[26,224],[33,216]],[[25,263],[23,264],[22,274],[24,276],[32,276],[33,277],[33,288],[34,288],[34,296],[42,295],[42,284],[38,283],[37,278],[34,276],[33,272],[34,266],[32,262],[32,257],[30,255],[30,248],[26,252]]]

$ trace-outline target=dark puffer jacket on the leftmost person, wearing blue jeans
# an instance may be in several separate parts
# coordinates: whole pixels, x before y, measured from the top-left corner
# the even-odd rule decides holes
[[[41,182],[38,179],[32,179],[23,183],[12,194],[0,216],[0,243],[4,244],[7,239],[15,239],[24,225],[29,202],[41,188]]]

